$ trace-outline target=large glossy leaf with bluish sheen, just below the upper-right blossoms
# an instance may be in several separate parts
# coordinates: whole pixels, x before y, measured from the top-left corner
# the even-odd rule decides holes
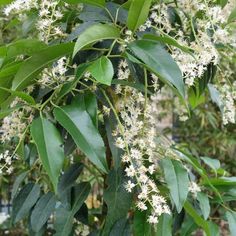
[[[137,40],[128,45],[131,52],[142,61],[145,67],[157,74],[160,79],[184,98],[182,73],[171,55],[160,44],[150,40]]]

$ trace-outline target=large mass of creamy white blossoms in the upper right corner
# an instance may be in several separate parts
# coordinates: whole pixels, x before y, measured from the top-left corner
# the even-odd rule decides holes
[[[232,2],[227,4],[224,9],[219,6],[208,6],[207,2],[183,0],[178,3],[178,14],[182,25],[170,22],[168,5],[156,4],[151,8],[149,19],[140,27],[140,31],[154,29],[157,34],[165,36],[175,31],[175,39],[180,45],[189,47],[194,53],[186,53],[179,48],[169,46],[172,57],[179,65],[187,86],[193,86],[195,78],[201,78],[209,63],[218,64],[220,54],[216,50],[215,43],[235,43],[235,38],[229,37],[229,29],[224,27]],[[192,15],[197,12],[204,12],[204,17],[196,18],[193,22]],[[186,14],[187,13],[187,14]],[[190,14],[190,17],[189,15]],[[196,24],[196,29],[194,24]],[[217,25],[217,28],[215,28]],[[209,31],[213,34],[210,37]],[[193,33],[195,40],[186,36],[186,32]]]

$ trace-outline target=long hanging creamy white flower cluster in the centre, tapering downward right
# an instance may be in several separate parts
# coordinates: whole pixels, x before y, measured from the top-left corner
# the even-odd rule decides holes
[[[137,207],[141,211],[151,207],[148,222],[157,223],[161,214],[170,214],[170,209],[154,181],[155,173],[161,158],[176,158],[176,154],[170,141],[157,136],[158,96],[152,96],[150,100],[129,87],[119,89],[119,95],[123,99],[116,107],[119,107],[121,121],[113,135],[117,147],[124,151],[122,162],[130,178],[126,189],[129,192],[135,187],[138,189]]]

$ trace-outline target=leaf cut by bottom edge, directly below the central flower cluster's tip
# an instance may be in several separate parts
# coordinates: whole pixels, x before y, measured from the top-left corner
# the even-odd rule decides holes
[[[156,226],[156,236],[172,236],[172,217],[169,214],[162,214]]]

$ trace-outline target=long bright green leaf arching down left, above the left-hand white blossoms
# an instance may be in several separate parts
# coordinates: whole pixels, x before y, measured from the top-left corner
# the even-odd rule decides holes
[[[34,54],[22,64],[12,82],[12,90],[20,90],[31,84],[50,63],[72,52],[74,43],[49,46]]]

